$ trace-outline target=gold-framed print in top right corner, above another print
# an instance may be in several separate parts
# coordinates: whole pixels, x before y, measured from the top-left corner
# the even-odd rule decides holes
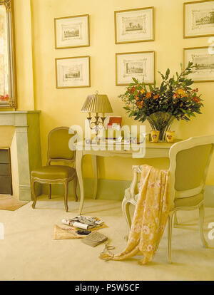
[[[183,4],[183,38],[214,36],[214,1]]]

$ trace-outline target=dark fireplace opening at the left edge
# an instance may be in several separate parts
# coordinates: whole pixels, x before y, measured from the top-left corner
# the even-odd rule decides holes
[[[13,195],[9,148],[0,149],[0,194]]]

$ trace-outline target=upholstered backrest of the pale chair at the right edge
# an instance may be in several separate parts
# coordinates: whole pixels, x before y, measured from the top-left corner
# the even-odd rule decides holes
[[[214,135],[198,136],[170,148],[170,200],[203,192],[213,155]]]

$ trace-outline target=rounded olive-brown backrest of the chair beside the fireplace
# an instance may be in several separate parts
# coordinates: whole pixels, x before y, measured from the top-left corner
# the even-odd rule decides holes
[[[69,140],[73,136],[76,136],[76,134],[68,127],[58,127],[51,130],[48,138],[48,165],[51,161],[75,161],[75,152],[70,150],[68,146]]]

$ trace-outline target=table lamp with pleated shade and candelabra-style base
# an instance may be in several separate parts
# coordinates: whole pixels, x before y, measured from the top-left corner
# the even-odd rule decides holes
[[[98,135],[98,130],[103,129],[104,121],[106,119],[105,113],[113,113],[111,108],[111,103],[108,100],[108,96],[106,94],[96,94],[88,95],[85,103],[83,104],[83,108],[81,112],[88,113],[88,122],[91,130],[96,131],[96,135]],[[96,113],[95,120],[92,121],[91,113]],[[98,114],[101,113],[99,116]]]

